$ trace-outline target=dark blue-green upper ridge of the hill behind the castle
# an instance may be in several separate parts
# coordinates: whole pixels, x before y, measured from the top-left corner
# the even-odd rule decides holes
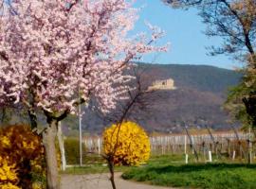
[[[210,65],[148,63],[138,63],[138,65],[151,76],[151,82],[155,79],[172,77],[178,87],[213,93],[227,91],[229,86],[236,85],[242,77],[235,71]]]

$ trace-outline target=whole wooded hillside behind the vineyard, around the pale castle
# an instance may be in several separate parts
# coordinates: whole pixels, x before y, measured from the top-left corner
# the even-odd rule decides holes
[[[143,70],[143,83],[152,85],[157,79],[174,79],[174,91],[157,91],[152,108],[139,112],[138,122],[148,131],[181,131],[181,121],[190,127],[201,125],[205,119],[214,129],[227,129],[227,113],[222,111],[229,87],[242,77],[234,71],[207,65],[161,65],[139,63]],[[86,131],[101,132],[110,123],[94,112],[86,111],[83,126]],[[200,126],[201,125],[201,126]]]

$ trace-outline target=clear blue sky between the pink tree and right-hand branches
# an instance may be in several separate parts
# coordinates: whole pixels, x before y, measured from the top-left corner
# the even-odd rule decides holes
[[[221,43],[220,38],[208,38],[203,32],[206,26],[201,22],[196,9],[172,9],[160,0],[137,0],[135,7],[142,8],[135,31],[147,29],[144,22],[162,28],[166,35],[159,43],[171,43],[169,52],[157,53],[143,58],[143,61],[157,63],[208,64],[232,69],[239,64],[229,57],[208,56],[205,48]]]

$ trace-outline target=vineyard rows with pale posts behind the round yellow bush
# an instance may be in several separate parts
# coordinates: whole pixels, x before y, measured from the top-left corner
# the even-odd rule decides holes
[[[252,134],[246,132],[213,132],[210,134],[162,134],[151,136],[151,155],[188,154],[209,160],[209,152],[217,157],[230,159],[247,159],[247,153],[253,148],[249,139]],[[101,155],[102,140],[100,136],[83,139],[86,151]]]

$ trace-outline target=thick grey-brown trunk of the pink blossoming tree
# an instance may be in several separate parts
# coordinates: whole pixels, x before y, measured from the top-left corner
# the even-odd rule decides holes
[[[46,150],[46,180],[47,189],[60,189],[55,138],[58,121],[51,120],[43,134],[43,143]]]

